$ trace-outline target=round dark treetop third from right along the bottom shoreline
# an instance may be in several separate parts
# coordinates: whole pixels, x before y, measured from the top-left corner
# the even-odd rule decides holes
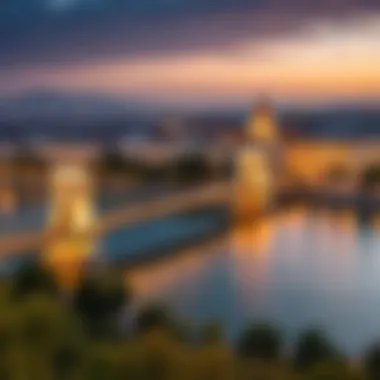
[[[238,341],[240,355],[247,358],[275,360],[281,354],[280,332],[269,324],[248,327]]]

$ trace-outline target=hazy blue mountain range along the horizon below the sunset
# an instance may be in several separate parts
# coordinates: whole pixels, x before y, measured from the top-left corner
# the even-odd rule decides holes
[[[114,140],[129,133],[150,133],[170,110],[136,100],[121,100],[104,94],[69,93],[49,89],[0,98],[0,139],[28,140],[36,137]],[[240,128],[247,110],[210,109],[172,111],[188,128],[188,133],[207,135]],[[279,110],[284,132],[297,136],[327,138],[380,138],[380,109],[363,105],[339,105]],[[202,132],[203,131],[203,132]]]

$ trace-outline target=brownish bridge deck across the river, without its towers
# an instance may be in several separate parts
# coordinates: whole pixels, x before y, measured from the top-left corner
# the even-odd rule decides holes
[[[160,196],[138,203],[120,205],[105,212],[95,221],[86,235],[99,238],[120,225],[141,223],[149,219],[182,213],[202,206],[227,204],[230,202],[232,183],[223,181],[203,184],[174,194]],[[0,257],[6,258],[22,252],[42,251],[62,233],[60,230],[30,231],[0,237]]]

